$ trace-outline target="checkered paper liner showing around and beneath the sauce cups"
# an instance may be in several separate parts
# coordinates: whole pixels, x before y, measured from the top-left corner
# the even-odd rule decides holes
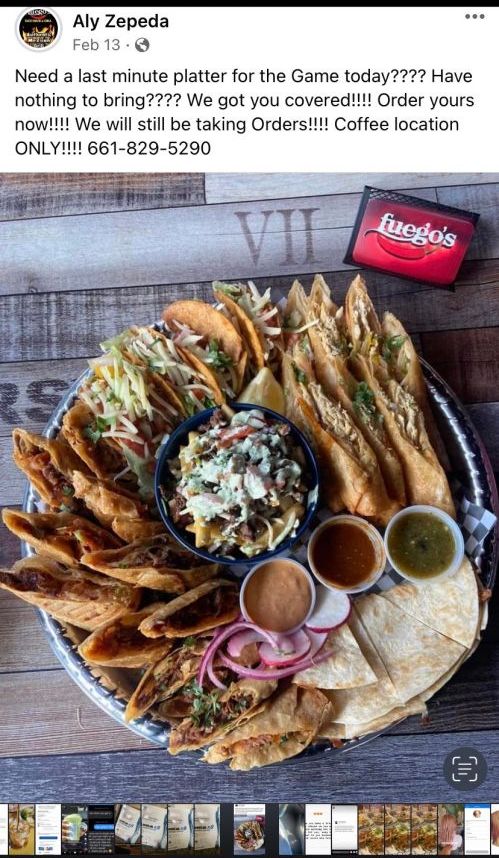
[[[457,521],[464,537],[465,553],[470,560],[473,560],[474,563],[480,567],[480,556],[483,551],[483,542],[485,537],[488,536],[494,528],[497,517],[488,509],[483,509],[482,507],[477,506],[477,504],[471,503],[471,501],[466,497],[464,489],[460,483],[455,482],[452,488],[454,501],[456,503]],[[323,521],[327,521],[327,519],[331,517],[331,512],[328,509],[319,510],[314,516],[312,525],[301,537],[300,542],[297,543],[291,551],[284,552],[281,556],[292,556],[295,560],[298,560],[306,566],[307,546],[310,536],[319,524]],[[238,578],[245,575],[250,569],[251,566],[249,564],[238,564],[237,566],[231,567],[231,571]],[[387,560],[385,571],[381,578],[379,578],[378,581],[369,588],[369,590],[364,592],[383,593],[386,590],[390,590],[391,587],[395,587],[396,584],[403,583],[404,580],[405,579],[402,578],[398,572],[395,572],[395,569]]]

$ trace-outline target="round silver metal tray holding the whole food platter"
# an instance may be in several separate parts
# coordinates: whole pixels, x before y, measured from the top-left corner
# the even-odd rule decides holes
[[[445,443],[453,477],[459,481],[469,501],[499,515],[499,499],[492,465],[478,432],[465,408],[446,382],[425,361],[422,361],[422,365],[430,403]],[[50,417],[44,433],[48,437],[57,434],[64,414],[73,404],[78,388],[88,373],[89,370],[75,381]],[[37,509],[36,504],[36,494],[28,485],[24,495],[23,509],[27,512],[34,512]],[[30,553],[32,550],[29,546],[23,544],[23,554],[27,556]],[[499,530],[496,526],[486,537],[480,556],[475,559],[484,586],[491,589],[495,582],[498,556]],[[127,701],[123,693],[110,690],[109,687],[106,687],[103,679],[92,674],[89,666],[78,655],[74,641],[57,620],[43,611],[38,611],[38,613],[54,653],[85,694],[108,715],[133,730],[134,733],[151,742],[166,746],[168,742],[168,725],[166,722],[146,714],[136,721],[125,724],[124,711]],[[114,674],[118,680],[116,684],[121,687],[126,686],[126,671],[114,671]],[[131,693],[133,684],[130,684],[130,680],[128,680],[128,684]],[[323,750],[341,753],[357,744],[369,741],[377,735],[380,733],[374,733],[360,742],[350,742],[342,748],[332,748],[329,742],[327,744],[316,742],[302,756],[310,756]]]

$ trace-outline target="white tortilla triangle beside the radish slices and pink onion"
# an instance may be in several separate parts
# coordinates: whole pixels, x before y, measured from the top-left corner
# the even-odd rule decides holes
[[[331,650],[331,657],[296,673],[293,677],[295,685],[333,689],[364,687],[376,682],[376,673],[362,654],[347,623],[329,632],[323,650],[327,649]]]

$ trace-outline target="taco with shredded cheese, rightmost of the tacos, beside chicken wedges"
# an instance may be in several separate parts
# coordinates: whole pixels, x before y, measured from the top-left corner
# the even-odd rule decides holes
[[[265,366],[273,372],[278,370],[284,343],[279,310],[272,303],[270,289],[260,295],[251,281],[215,281],[213,292],[244,341],[252,374]]]

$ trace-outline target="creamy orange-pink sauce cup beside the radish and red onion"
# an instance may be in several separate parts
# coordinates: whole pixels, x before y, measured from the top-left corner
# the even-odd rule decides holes
[[[285,558],[269,560],[260,566],[244,591],[248,616],[270,632],[286,632],[301,625],[311,601],[305,573]]]

